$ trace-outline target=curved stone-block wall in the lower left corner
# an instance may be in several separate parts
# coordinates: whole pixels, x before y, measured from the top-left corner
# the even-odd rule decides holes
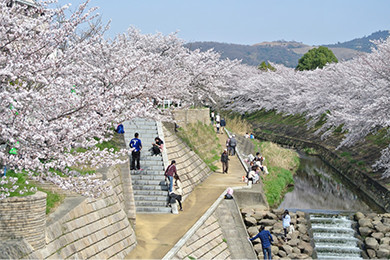
[[[46,193],[0,200],[0,239],[24,238],[35,250],[45,246]]]

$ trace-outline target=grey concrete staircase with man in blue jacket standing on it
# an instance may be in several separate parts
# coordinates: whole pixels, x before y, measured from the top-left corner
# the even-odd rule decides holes
[[[140,164],[143,170],[130,171],[137,213],[170,213],[171,208],[166,207],[168,186],[165,183],[163,157],[152,156],[149,151],[154,138],[158,136],[156,122],[136,118],[124,122],[123,126],[127,147],[135,133],[139,134],[142,142]]]

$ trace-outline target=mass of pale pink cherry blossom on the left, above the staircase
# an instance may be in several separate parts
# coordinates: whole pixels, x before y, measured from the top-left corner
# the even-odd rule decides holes
[[[64,18],[68,6],[51,9],[43,2],[28,9],[1,1],[0,143],[17,153],[2,150],[0,159],[39,180],[98,196],[107,190],[105,182],[77,176],[71,166],[122,162],[125,150],[95,146],[112,138],[113,126],[139,116],[159,118],[156,102],[163,99],[191,104],[227,84],[237,62],[189,51],[175,34],[130,28],[113,40],[103,37],[104,30],[79,36],[77,28],[96,18],[87,4]]]

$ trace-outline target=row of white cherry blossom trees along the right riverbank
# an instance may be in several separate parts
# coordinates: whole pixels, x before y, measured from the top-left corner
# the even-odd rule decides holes
[[[326,123],[318,131],[323,137],[336,127],[346,130],[341,146],[362,140],[380,128],[389,127],[390,39],[376,42],[372,53],[330,64],[314,71],[295,71],[275,65],[275,72],[237,67],[243,78],[234,84],[234,102],[239,112],[275,109],[286,114],[304,114]],[[251,72],[248,72],[252,70]],[[238,73],[238,74],[240,74]],[[374,165],[390,177],[390,147]]]

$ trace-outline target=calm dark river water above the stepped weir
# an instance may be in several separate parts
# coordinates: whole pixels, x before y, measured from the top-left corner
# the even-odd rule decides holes
[[[300,155],[294,189],[286,193],[279,208],[320,211],[377,211],[368,206],[357,190],[317,156]]]

